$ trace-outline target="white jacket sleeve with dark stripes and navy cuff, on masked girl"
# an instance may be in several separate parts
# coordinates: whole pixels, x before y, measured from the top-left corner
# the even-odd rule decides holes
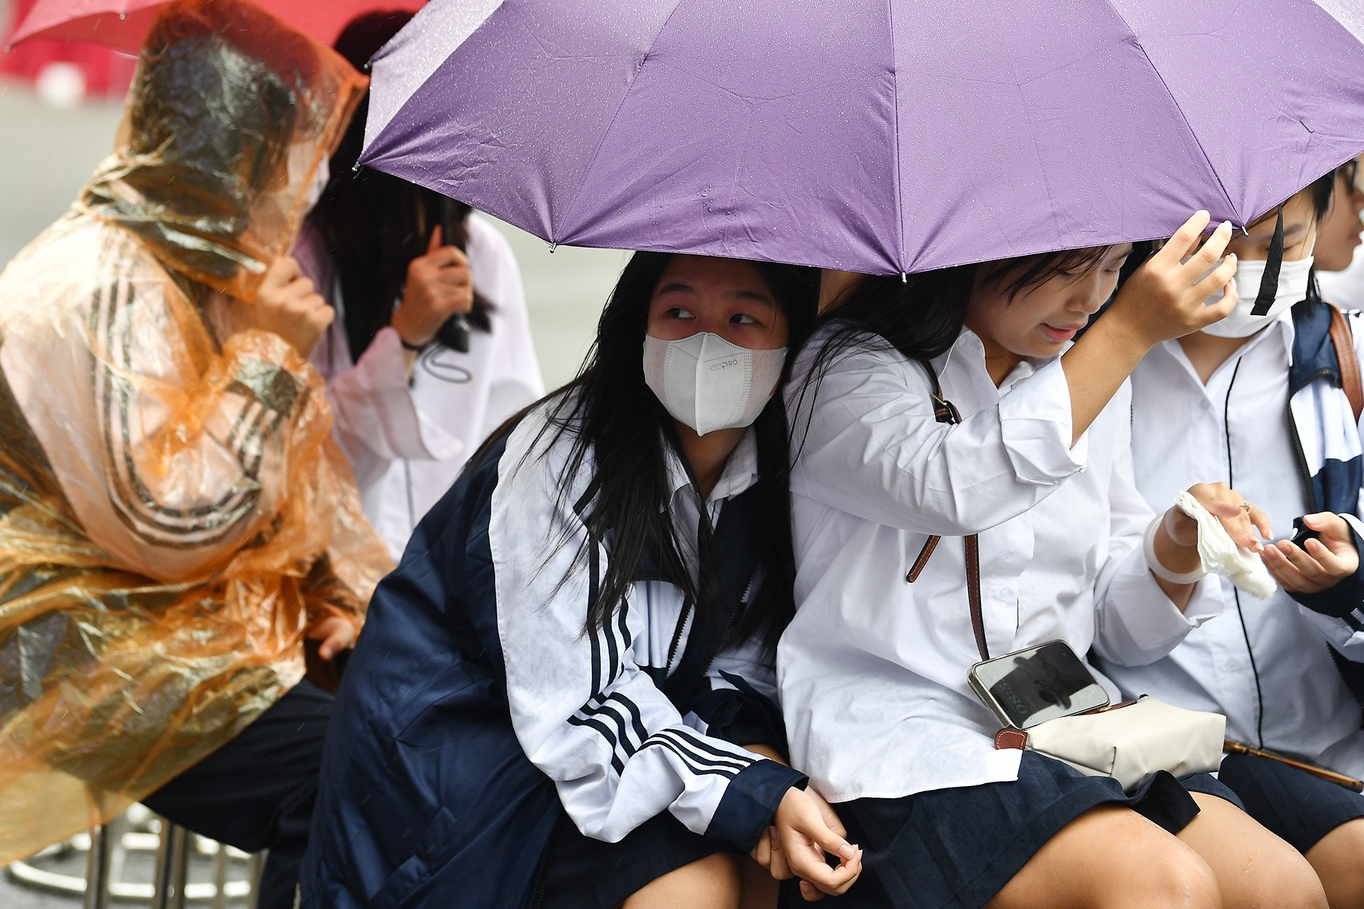
[[[670,811],[746,852],[805,777],[700,733],[653,684],[636,660],[648,653],[649,583],[637,583],[606,627],[584,631],[607,553],[584,549],[573,510],[581,491],[559,495],[566,443],[525,457],[543,425],[528,418],[510,437],[501,463],[514,472],[498,484],[488,527],[517,739],[589,837],[618,842]]]

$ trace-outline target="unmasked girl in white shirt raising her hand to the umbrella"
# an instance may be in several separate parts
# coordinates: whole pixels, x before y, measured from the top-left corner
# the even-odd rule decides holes
[[[1213,267],[1230,225],[1199,244],[1206,225],[1073,346],[1131,245],[863,278],[797,358],[797,615],[777,676],[792,765],[865,850],[843,902],[1322,909],[1307,863],[1207,774],[1127,793],[997,744],[968,681],[985,650],[1053,641],[1155,660],[1221,608],[1178,576],[1200,567],[1188,518],[1143,545],[1155,512],[1127,443],[1132,367],[1234,304],[1233,266]],[[1234,492],[1191,492],[1252,540]]]

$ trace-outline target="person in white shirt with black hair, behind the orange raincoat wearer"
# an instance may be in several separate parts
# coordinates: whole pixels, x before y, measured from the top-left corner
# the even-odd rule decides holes
[[[336,49],[364,68],[411,18],[359,16]],[[312,363],[364,514],[397,559],[479,443],[544,383],[512,247],[462,203],[355,170],[367,108],[331,158],[295,256],[337,311]]]

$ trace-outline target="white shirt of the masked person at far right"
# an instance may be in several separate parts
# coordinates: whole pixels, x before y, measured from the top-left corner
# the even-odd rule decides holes
[[[1166,507],[1195,482],[1222,481],[1270,518],[1275,540],[1307,512],[1288,425],[1293,318],[1249,338],[1204,386],[1177,341],[1132,372],[1132,461],[1138,489]],[[1230,443],[1230,447],[1228,447]],[[1103,665],[1124,694],[1226,715],[1229,739],[1364,775],[1360,706],[1335,669],[1322,624],[1282,589],[1269,600],[1210,579],[1225,613],[1169,656],[1140,666]]]

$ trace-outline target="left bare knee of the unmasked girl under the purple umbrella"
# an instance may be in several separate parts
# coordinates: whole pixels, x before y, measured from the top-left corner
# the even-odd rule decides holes
[[[1131,808],[1099,805],[1052,837],[986,909],[1219,909],[1196,852]]]

